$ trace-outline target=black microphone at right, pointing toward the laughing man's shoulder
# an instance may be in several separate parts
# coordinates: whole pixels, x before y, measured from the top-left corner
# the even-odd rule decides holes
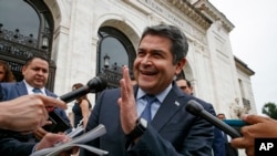
[[[196,102],[195,100],[191,100],[187,102],[186,111],[192,113],[195,116],[201,116],[202,118],[206,119],[211,124],[215,125],[219,129],[227,133],[232,138],[242,137],[242,135],[236,129],[234,129],[233,127],[225,124],[224,122],[222,122],[220,119],[218,119],[214,115],[206,112],[203,108],[203,106],[198,102]]]

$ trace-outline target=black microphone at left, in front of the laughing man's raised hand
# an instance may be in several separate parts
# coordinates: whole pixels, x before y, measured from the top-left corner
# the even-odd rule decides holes
[[[84,85],[78,90],[74,90],[72,92],[69,92],[69,93],[66,93],[58,98],[60,98],[61,101],[63,101],[65,103],[69,103],[69,102],[72,102],[73,100],[75,100],[80,96],[88,94],[88,93],[101,92],[101,91],[106,89],[106,85],[107,85],[107,83],[103,77],[95,76],[92,80],[90,80],[86,85]]]

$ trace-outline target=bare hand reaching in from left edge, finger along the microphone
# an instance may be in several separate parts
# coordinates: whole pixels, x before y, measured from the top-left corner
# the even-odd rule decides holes
[[[66,108],[64,102],[39,94],[1,102],[0,127],[16,132],[33,132],[48,123],[45,106]]]

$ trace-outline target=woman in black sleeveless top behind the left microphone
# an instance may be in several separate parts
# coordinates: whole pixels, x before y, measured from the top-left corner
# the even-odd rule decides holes
[[[75,83],[72,86],[72,91],[82,86],[84,86],[82,83]],[[91,113],[91,102],[89,101],[86,94],[75,100],[72,112],[74,114],[74,127],[78,126],[80,121],[83,121],[83,127],[85,127]]]

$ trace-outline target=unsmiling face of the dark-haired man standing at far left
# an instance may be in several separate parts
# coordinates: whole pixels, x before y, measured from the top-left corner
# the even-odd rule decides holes
[[[35,58],[29,65],[23,66],[22,74],[31,86],[41,89],[48,81],[49,64],[47,61]]]

